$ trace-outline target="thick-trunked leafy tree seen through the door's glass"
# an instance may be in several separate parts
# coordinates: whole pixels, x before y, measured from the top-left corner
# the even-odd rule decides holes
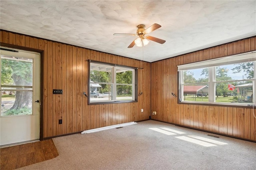
[[[1,84],[32,86],[32,63],[10,59],[1,60]],[[9,109],[22,109],[32,102],[31,91],[16,91],[14,105]]]

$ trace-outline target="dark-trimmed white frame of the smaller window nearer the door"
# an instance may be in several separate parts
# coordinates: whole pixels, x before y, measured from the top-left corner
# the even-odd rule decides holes
[[[112,84],[112,95],[116,96],[116,86],[120,83],[116,83],[116,69],[124,69],[127,71],[132,71],[132,100],[117,100],[115,97],[112,100],[108,101],[91,101],[90,100],[90,71],[91,71],[91,64],[95,65],[105,65],[112,67],[111,71],[111,82],[108,84]],[[98,82],[94,82],[98,83]],[[101,82],[102,83],[102,82]],[[104,84],[104,83],[103,83]],[[94,60],[88,60],[88,105],[99,105],[99,104],[110,104],[110,103],[134,103],[138,102],[138,68],[136,67],[129,67],[125,65],[117,65],[117,64],[111,64],[111,63],[105,63],[100,61],[94,61]]]

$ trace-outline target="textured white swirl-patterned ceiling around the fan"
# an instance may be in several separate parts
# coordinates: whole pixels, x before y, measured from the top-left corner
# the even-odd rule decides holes
[[[137,26],[157,23],[142,49]],[[256,35],[256,0],[0,0],[0,29],[153,62]]]

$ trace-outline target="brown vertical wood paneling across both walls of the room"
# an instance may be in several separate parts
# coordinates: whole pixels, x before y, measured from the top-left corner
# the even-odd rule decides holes
[[[149,118],[256,141],[253,110],[241,107],[178,104],[177,65],[256,50],[256,38],[226,43],[154,63],[138,71],[138,103],[88,105],[88,59],[140,67],[117,55],[85,49],[12,32],[0,31],[0,43],[39,49],[43,55],[43,138]],[[140,76],[142,74],[142,76]],[[151,77],[148,79],[147,77]],[[141,79],[140,79],[141,78]],[[141,82],[141,83],[140,83]],[[52,89],[63,89],[52,95]],[[141,113],[140,109],[144,109]],[[254,109],[256,114],[256,109]],[[58,124],[58,119],[63,123]]]

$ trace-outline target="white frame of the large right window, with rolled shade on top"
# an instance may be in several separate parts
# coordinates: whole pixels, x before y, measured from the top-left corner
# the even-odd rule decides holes
[[[230,57],[233,57],[230,61]],[[184,65],[178,65],[178,103],[179,104],[196,104],[196,105],[220,105],[220,106],[238,106],[238,107],[245,107],[245,106],[252,106],[256,103],[256,75],[252,79],[238,79],[238,80],[229,80],[229,81],[216,81],[216,72],[215,69],[217,66],[225,66],[230,64],[237,64],[242,62],[254,62],[254,73],[256,72],[256,51],[250,51],[248,53],[241,53],[238,55],[230,55],[226,57],[221,57],[217,59],[210,59],[206,61],[200,61],[195,63],[189,63]],[[203,69],[208,68],[208,81],[200,82],[208,83],[208,101],[183,101],[184,99],[184,92],[183,87],[185,83],[183,82],[183,72],[189,71],[192,69]],[[252,89],[253,89],[253,100],[252,103],[226,103],[226,102],[216,102],[216,83],[227,83],[227,82],[235,82],[235,81],[252,81]],[[194,84],[200,84],[194,83]],[[189,83],[188,83],[189,84]],[[193,83],[190,83],[193,84]],[[249,105],[248,105],[249,104]]]

